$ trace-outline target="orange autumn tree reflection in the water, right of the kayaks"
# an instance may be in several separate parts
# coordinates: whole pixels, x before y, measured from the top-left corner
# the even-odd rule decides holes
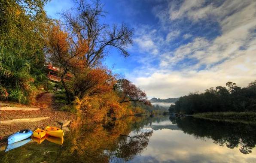
[[[153,133],[152,130],[139,130],[137,126],[135,133],[130,134],[133,124],[142,121],[142,118],[129,116],[108,124],[92,124],[86,129],[76,130],[67,140],[69,157],[66,159],[94,163],[107,163],[114,158],[132,160],[146,148]]]

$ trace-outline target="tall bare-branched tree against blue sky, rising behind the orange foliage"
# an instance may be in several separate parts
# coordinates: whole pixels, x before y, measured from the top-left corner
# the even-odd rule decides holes
[[[107,14],[100,0],[86,3],[86,0],[75,0],[77,8],[62,12],[62,18],[67,30],[75,33],[76,39],[88,40],[88,51],[83,52],[85,67],[94,67],[101,63],[110,48],[116,48],[121,55],[128,57],[126,48],[132,45],[133,29],[125,23],[120,26],[101,23],[101,18]]]

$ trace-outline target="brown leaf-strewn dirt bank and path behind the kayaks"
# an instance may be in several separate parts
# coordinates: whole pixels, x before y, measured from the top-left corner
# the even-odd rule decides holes
[[[54,109],[53,94],[43,93],[37,96],[37,107],[40,110],[36,111],[20,111],[20,110],[4,110],[0,112],[1,121],[19,119],[19,118],[37,118],[37,117],[50,117],[49,119],[37,121],[37,122],[26,122],[26,123],[12,123],[12,124],[1,124],[0,126],[0,136],[2,136],[3,141],[13,134],[22,129],[35,130],[38,128],[43,129],[48,126],[61,127],[57,121],[61,120],[72,120],[74,116],[70,112],[60,111]],[[2,143],[1,142],[1,143]]]

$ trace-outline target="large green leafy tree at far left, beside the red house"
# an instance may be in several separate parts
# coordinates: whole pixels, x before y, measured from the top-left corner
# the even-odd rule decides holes
[[[0,1],[0,96],[33,103],[37,86],[46,85],[43,37],[51,19],[48,0]]]

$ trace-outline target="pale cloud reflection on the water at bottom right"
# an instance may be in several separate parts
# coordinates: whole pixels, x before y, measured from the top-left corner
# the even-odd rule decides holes
[[[158,125],[165,125],[164,123],[160,122]],[[152,123],[152,125],[155,124]],[[195,140],[194,136],[184,134],[183,131],[162,129],[154,131],[147,149],[133,161],[149,163],[253,163],[256,159],[255,152],[242,154],[239,148],[240,145],[234,149],[221,147],[207,137]]]

